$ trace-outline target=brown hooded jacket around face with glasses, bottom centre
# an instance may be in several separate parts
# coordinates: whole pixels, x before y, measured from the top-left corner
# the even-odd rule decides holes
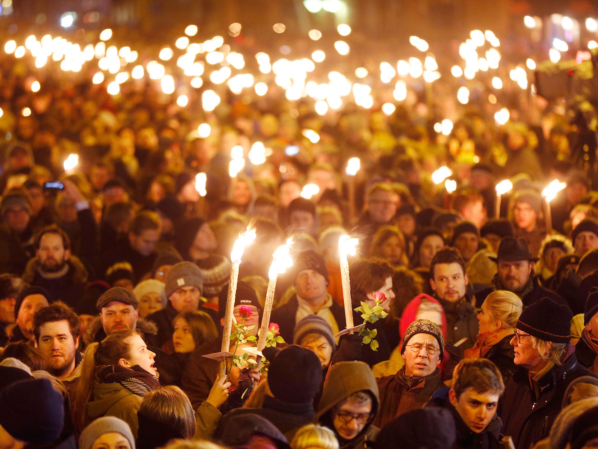
[[[366,391],[372,398],[372,418],[365,424],[359,435],[349,441],[338,435],[331,416],[331,410],[353,393]],[[332,368],[328,383],[324,387],[316,414],[316,420],[334,432],[341,449],[371,447],[380,429],[372,425],[380,409],[380,399],[376,380],[369,366],[363,362],[338,362]]]

